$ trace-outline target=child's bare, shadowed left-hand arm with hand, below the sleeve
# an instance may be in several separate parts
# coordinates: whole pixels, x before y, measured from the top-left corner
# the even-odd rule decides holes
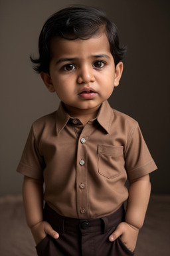
[[[38,179],[25,177],[23,182],[23,202],[27,225],[36,243],[39,243],[46,234],[57,239],[58,233],[52,229],[49,223],[43,221],[43,183]]]

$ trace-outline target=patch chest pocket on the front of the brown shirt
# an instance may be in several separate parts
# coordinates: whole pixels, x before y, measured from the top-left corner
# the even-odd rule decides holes
[[[124,165],[124,147],[98,145],[98,173],[113,179],[121,173]]]

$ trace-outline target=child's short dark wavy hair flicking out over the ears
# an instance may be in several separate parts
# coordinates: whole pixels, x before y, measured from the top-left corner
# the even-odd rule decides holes
[[[49,73],[50,41],[53,37],[62,37],[68,40],[77,38],[86,40],[103,29],[110,43],[110,51],[117,65],[126,53],[126,47],[120,48],[118,28],[107,19],[105,13],[94,7],[73,5],[54,13],[44,23],[39,36],[39,59],[31,58],[35,64],[33,69],[37,73]]]

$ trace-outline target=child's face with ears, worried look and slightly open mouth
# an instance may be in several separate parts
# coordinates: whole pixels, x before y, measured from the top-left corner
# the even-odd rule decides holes
[[[88,40],[54,38],[50,75],[41,77],[56,92],[68,113],[96,111],[119,85],[123,64],[114,65],[105,33]]]

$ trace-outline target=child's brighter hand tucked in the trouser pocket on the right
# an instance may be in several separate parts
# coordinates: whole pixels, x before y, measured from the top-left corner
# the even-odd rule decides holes
[[[118,225],[114,233],[110,235],[109,240],[110,242],[113,242],[121,236],[122,242],[126,245],[129,251],[134,251],[138,233],[139,229],[137,229],[137,227],[126,222],[122,222]]]

